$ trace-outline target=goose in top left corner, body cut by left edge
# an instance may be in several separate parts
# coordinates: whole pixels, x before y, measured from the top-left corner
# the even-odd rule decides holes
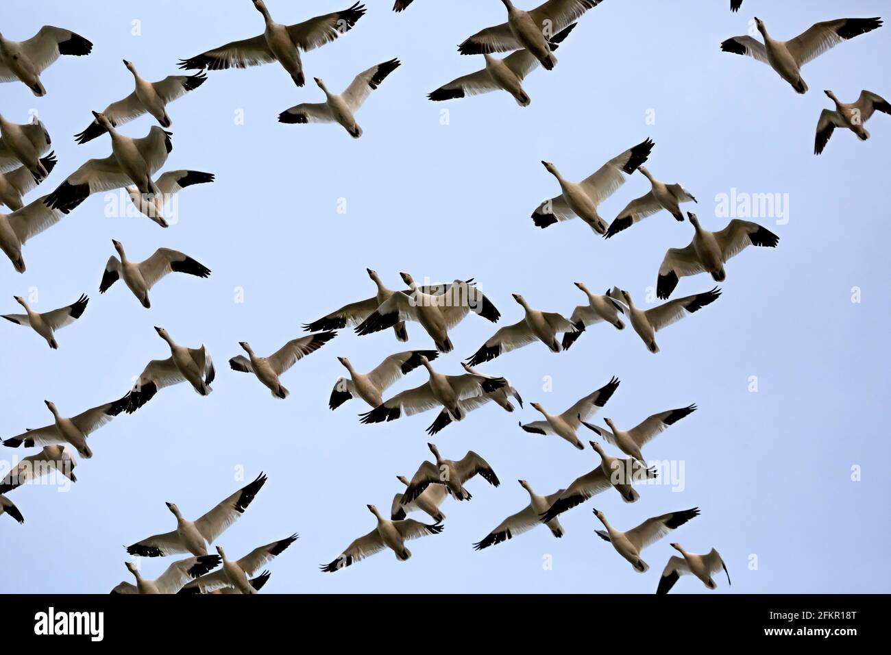
[[[0,82],[18,79],[37,97],[46,94],[40,74],[62,54],[89,54],[93,44],[70,29],[45,25],[27,41],[10,41],[0,34]]]

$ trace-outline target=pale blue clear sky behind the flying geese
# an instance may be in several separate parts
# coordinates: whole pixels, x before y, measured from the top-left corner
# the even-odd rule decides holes
[[[349,0],[267,4],[275,20],[294,23]],[[165,169],[217,175],[215,184],[181,194],[176,225],[162,230],[144,217],[108,217],[99,194],[27,244],[26,274],[0,262],[0,313],[18,311],[12,295],[32,290],[43,311],[80,293],[91,297],[83,317],[58,333],[57,351],[33,332],[0,325],[4,438],[49,422],[44,399],[72,415],[123,395],[151,358],[169,355],[153,325],[181,344],[205,344],[217,364],[209,397],[185,385],[164,389],[138,413],[94,433],[94,457],[79,462],[69,492],[44,485],[10,494],[26,523],[0,517],[0,553],[7,554],[0,590],[106,593],[129,579],[121,544],[175,527],[165,501],[197,518],[241,487],[235,476],[243,469],[248,480],[266,471],[269,481],[218,543],[241,556],[300,534],[269,567],[268,592],[652,593],[673,540],[692,552],[717,548],[733,592],[891,591],[884,554],[891,547],[884,471],[891,455],[884,430],[891,288],[883,264],[891,236],[891,117],[876,114],[871,141],[837,130],[823,155],[813,156],[817,119],[831,106],[822,89],[843,101],[863,88],[891,97],[891,28],[806,66],[811,90],[803,96],[763,64],[720,51],[723,39],[747,33],[754,15],[772,36],[789,38],[818,20],[883,15],[887,4],[745,0],[733,14],[726,0],[683,7],[605,0],[579,20],[556,69],[527,78],[532,104],[525,109],[503,93],[426,99],[481,68],[481,58],[460,56],[455,46],[503,22],[500,2],[415,0],[400,14],[390,11],[390,0],[368,4],[355,29],[304,56],[304,88],[278,65],[212,71],[204,86],[168,107],[174,150]],[[37,110],[59,159],[29,200],[86,159],[109,154],[107,137],[78,145],[71,135],[87,126],[91,110],[133,90],[122,59],[157,80],[176,73],[179,58],[263,29],[249,0],[102,2],[87,12],[59,0],[7,0],[0,8],[5,37],[28,38],[47,23],[89,38],[94,51],[47,70],[44,98],[20,84],[0,85],[0,111],[26,122]],[[336,125],[276,121],[291,105],[320,102],[312,77],[339,90],[393,57],[403,65],[359,112],[361,139]],[[142,136],[153,124],[142,117],[121,131]],[[697,211],[707,228],[729,220],[715,216],[722,194],[780,194],[782,212],[755,218],[780,235],[779,247],[732,259],[723,296],[660,332],[658,355],[630,329],[601,324],[567,353],[536,343],[481,366],[510,378],[526,409],[508,415],[486,406],[436,443],[455,459],[477,451],[502,486],[474,479],[470,503],[446,501],[445,531],[410,544],[410,561],[386,552],[333,575],[319,572],[320,563],[372,529],[365,504],[388,509],[402,489],[396,475],[410,477],[430,457],[424,429],[435,414],[360,425],[362,401],[328,409],[344,373],[336,356],[367,371],[405,349],[392,332],[341,331],[283,376],[291,391],[284,401],[229,369],[238,341],[271,353],[298,336],[301,323],[372,295],[366,267],[394,288],[400,271],[434,282],[475,277],[501,310],[502,325],[521,315],[511,293],[569,315],[584,299],[576,281],[598,292],[617,284],[644,304],[666,249],[690,242],[689,223],[663,212],[604,242],[580,221],[543,231],[529,216],[559,191],[540,160],[580,180],[648,136],[656,143],[648,168],[699,199],[684,209]],[[635,174],[601,214],[611,220],[648,189]],[[123,284],[100,296],[111,239],[135,259],[159,247],[183,250],[213,274],[169,276],[151,291],[150,310]],[[712,286],[707,275],[683,278],[674,297]],[[239,290],[243,302],[236,302]],[[461,359],[495,329],[468,317],[452,334],[454,353],[440,356],[436,369],[462,373]],[[408,347],[431,348],[418,324],[409,324],[409,333]],[[560,517],[560,540],[535,528],[474,552],[473,542],[528,503],[517,479],[550,494],[598,461],[588,447],[576,451],[559,438],[519,430],[518,420],[540,418],[528,402],[558,413],[613,375],[622,383],[598,424],[609,416],[631,427],[650,413],[699,405],[645,451],[675,471],[683,466],[683,484],[642,487],[636,504],[598,495]],[[425,379],[415,372],[390,393]],[[2,449],[0,459],[21,454],[27,452]],[[593,507],[626,529],[694,506],[698,518],[644,551],[646,575],[593,533],[600,528]],[[153,577],[170,561],[143,561],[143,570]],[[691,578],[675,589],[706,591]]]

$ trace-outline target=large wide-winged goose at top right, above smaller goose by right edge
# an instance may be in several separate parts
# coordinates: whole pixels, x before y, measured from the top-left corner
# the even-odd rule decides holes
[[[764,21],[755,17],[755,26],[764,43],[753,37],[732,37],[721,44],[725,53],[748,54],[763,61],[785,79],[799,94],[807,92],[805,80],[801,78],[801,67],[825,53],[830,48],[849,38],[880,28],[882,21],[876,18],[841,18],[815,23],[810,28],[789,41],[771,38],[764,28]]]

